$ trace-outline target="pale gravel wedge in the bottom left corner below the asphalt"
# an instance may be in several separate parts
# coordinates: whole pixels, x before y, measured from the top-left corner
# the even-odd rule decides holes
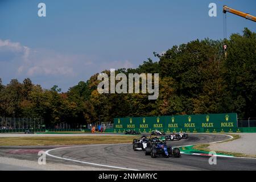
[[[99,171],[99,170],[111,170],[109,168],[97,168],[90,166],[76,166],[72,164],[58,164],[58,163],[46,163],[38,164],[38,162],[31,160],[20,160],[12,158],[0,157],[0,170],[3,171]]]

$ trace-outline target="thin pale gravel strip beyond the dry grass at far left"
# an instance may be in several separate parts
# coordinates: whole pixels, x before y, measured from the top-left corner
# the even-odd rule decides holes
[[[118,136],[123,134],[23,134],[23,133],[3,133],[0,137],[86,137],[86,136]]]

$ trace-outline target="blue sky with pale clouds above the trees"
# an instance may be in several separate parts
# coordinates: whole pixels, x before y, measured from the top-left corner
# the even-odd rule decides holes
[[[47,16],[39,18],[38,3]],[[208,5],[217,4],[217,17]],[[152,52],[194,39],[222,39],[222,6],[256,15],[256,1],[0,0],[0,78],[30,77],[63,91],[110,68],[136,68]],[[228,36],[256,24],[228,14]]]

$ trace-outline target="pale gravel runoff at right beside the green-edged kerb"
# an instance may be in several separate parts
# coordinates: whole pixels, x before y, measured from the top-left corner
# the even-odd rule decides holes
[[[238,133],[234,133],[238,134]],[[208,148],[216,151],[236,152],[246,155],[256,155],[256,133],[239,133],[241,138],[230,142],[212,143]]]

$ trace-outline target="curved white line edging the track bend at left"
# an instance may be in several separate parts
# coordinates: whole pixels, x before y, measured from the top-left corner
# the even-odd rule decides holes
[[[122,143],[122,144],[127,144],[127,143]],[[90,145],[90,146],[102,146],[102,145],[109,145],[109,144],[95,144],[95,145]],[[75,147],[84,147],[84,146],[72,146],[72,147],[53,148],[51,150],[47,150],[46,151],[46,155],[51,156],[52,158],[69,160],[69,161],[72,161],[72,162],[83,163],[83,164],[90,164],[90,165],[93,165],[93,166],[108,167],[108,168],[115,168],[115,169],[124,169],[124,170],[129,170],[129,171],[139,171],[138,169],[131,169],[131,168],[125,168],[125,167],[117,167],[117,166],[109,166],[109,165],[104,165],[104,164],[89,163],[89,162],[84,162],[84,161],[81,161],[81,160],[73,160],[73,159],[61,158],[59,156],[55,156],[55,155],[49,154],[49,152],[53,151],[53,150],[59,150],[59,149],[62,149],[62,148],[75,148]]]

